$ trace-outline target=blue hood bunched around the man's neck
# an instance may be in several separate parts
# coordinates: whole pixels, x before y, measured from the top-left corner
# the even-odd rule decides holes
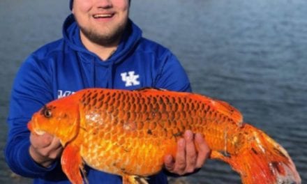
[[[114,52],[109,59],[103,62],[101,62],[95,53],[90,52],[82,44],[80,39],[80,29],[79,26],[77,26],[73,14],[70,14],[63,24],[63,38],[71,49],[75,50],[78,54],[81,54],[82,58],[85,58],[82,59],[83,61],[89,62],[94,59],[95,61],[98,61],[98,63],[108,66],[111,63],[115,64],[121,62],[125,56],[135,49],[135,45],[137,45],[142,38],[142,31],[129,19],[116,52]]]

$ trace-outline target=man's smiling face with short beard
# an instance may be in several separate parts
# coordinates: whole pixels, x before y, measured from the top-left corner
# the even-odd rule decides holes
[[[73,15],[82,36],[99,45],[118,42],[126,28],[128,0],[74,0]]]

